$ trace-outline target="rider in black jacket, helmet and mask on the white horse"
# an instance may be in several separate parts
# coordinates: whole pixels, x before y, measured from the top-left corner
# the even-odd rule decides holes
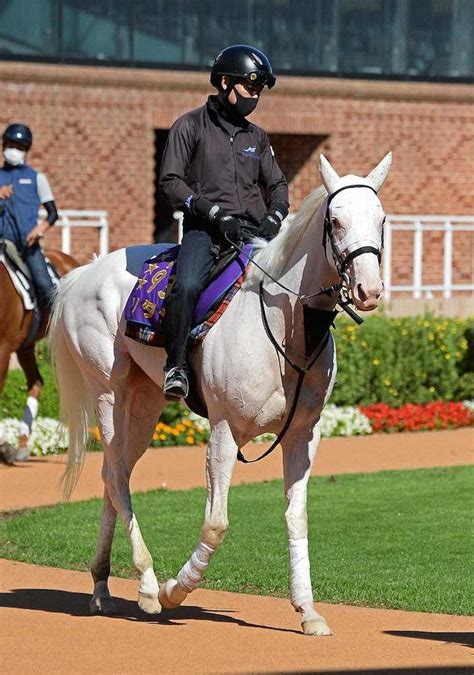
[[[194,307],[226,239],[272,239],[288,215],[288,185],[266,132],[247,121],[265,85],[276,81],[258,49],[234,45],[214,61],[217,95],[171,127],[160,171],[160,189],[184,212],[177,280],[166,305],[163,391],[186,397],[187,340]]]

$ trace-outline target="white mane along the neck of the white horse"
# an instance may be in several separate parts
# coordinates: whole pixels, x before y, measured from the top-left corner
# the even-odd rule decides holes
[[[324,185],[320,185],[306,197],[300,210],[291,221],[285,220],[280,232],[272,241],[266,242],[258,238],[254,240],[257,249],[256,262],[273,277],[278,278],[283,273],[285,262],[304,236],[308,225],[312,222],[326,195],[326,188]],[[263,272],[252,265],[248,279],[254,281],[262,277]]]

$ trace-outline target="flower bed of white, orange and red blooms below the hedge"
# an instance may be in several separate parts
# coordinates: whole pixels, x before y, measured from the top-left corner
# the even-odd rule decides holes
[[[474,403],[438,401],[427,405],[408,404],[391,408],[384,403],[369,406],[336,406],[330,403],[321,414],[321,435],[358,436],[377,432],[422,431],[429,429],[454,429],[474,423]],[[12,418],[0,420],[5,440],[15,445],[20,421]],[[271,441],[274,434],[262,434],[254,441]],[[173,447],[202,445],[209,439],[208,420],[183,412],[168,424],[159,422],[150,445]],[[100,435],[96,428],[90,432],[91,449],[100,450]],[[36,456],[64,452],[68,445],[67,433],[57,420],[38,417],[33,423],[30,438],[31,453]]]

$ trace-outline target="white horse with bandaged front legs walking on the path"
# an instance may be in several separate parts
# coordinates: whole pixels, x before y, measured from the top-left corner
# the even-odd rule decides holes
[[[303,306],[333,310],[338,293],[317,291],[331,286],[338,290],[341,280],[359,310],[377,306],[383,290],[379,268],[384,221],[377,192],[390,164],[389,153],[366,178],[340,178],[321,156],[324,187],[306,198],[273,241],[258,242],[255,261],[271,277],[252,268],[225,314],[193,348],[191,363],[211,424],[207,504],[199,544],[176,579],[161,586],[133,512],[129,480],[164,406],[165,354],[126,337],[123,319],[128,295],[152,249],[114,251],[64,279],[50,339],[63,419],[70,430],[67,496],[79,476],[94,413],[104,448],[104,507],[91,566],[93,613],[114,611],[108,576],[117,513],[140,574],[142,610],[157,613],[162,607],[177,607],[199,586],[228,528],[227,497],[238,450],[258,434],[282,429],[304,372],[296,411],[281,441],[291,603],[301,614],[304,633],[331,634],[314,607],[306,495],[320,439],[319,417],[336,375],[336,356],[332,338],[326,335],[309,369],[315,352],[307,353]]]

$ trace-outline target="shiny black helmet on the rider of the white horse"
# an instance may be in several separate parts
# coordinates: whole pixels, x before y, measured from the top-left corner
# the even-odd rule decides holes
[[[214,61],[211,70],[211,84],[221,89],[223,75],[247,80],[250,84],[267,86],[271,89],[276,82],[270,61],[265,54],[249,45],[233,45],[224,49]]]

